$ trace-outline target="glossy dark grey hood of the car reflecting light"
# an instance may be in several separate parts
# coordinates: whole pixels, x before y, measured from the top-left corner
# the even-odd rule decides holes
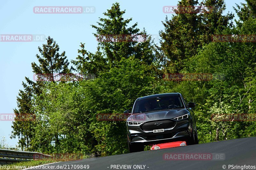
[[[161,119],[172,119],[181,115],[188,114],[189,111],[185,108],[182,109],[168,109],[168,110],[157,110],[146,113],[133,114],[128,117],[128,121],[137,122],[148,122]]]

